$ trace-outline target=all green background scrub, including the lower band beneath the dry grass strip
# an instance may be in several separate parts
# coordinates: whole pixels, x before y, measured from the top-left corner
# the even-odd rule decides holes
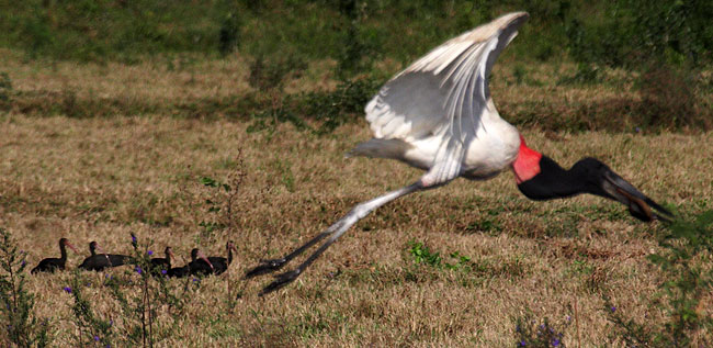
[[[252,88],[157,101],[107,97],[91,85],[10,93],[10,77],[4,77],[0,110],[72,117],[225,116],[251,121],[250,131],[256,132],[272,132],[287,122],[324,135],[359,119],[376,88],[428,49],[507,11],[525,10],[530,22],[505,52],[502,65],[518,61],[511,63],[512,78],[521,85],[517,90],[524,85],[555,93],[548,98],[540,92],[540,98],[523,101],[503,98],[497,90],[498,108],[512,123],[569,132],[709,130],[711,8],[701,0],[0,0],[0,10],[5,10],[0,11],[0,46],[21,49],[31,59],[155,66],[165,61],[169,71],[195,76],[192,67],[200,63],[239,57]],[[532,67],[542,64],[555,71],[535,78]],[[559,68],[571,64],[575,69]],[[623,82],[616,69],[626,71]],[[503,71],[493,77],[496,89],[509,79]],[[317,80],[329,82],[304,87]],[[296,92],[290,86],[295,81],[302,83]],[[571,101],[571,93],[559,96],[561,87],[625,92]],[[309,125],[313,120],[320,124]]]

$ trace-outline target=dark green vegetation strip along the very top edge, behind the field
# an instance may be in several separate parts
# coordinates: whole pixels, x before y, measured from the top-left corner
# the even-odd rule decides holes
[[[367,57],[410,60],[446,37],[514,10],[532,14],[516,48],[520,57],[561,59],[568,53],[577,61],[604,65],[647,59],[699,65],[710,63],[713,48],[708,25],[713,5],[704,0],[4,0],[0,9],[1,44],[55,59],[225,55],[238,48],[256,57],[329,56],[349,75],[369,70]],[[410,40],[416,37],[418,42]]]

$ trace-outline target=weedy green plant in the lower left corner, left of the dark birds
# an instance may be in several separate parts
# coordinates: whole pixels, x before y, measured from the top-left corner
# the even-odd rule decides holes
[[[8,231],[0,227],[0,323],[7,336],[3,346],[46,347],[49,327],[34,314],[35,298],[25,289],[26,255],[18,250]]]

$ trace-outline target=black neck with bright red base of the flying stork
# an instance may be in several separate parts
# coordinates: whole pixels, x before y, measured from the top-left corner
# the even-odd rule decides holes
[[[596,193],[588,187],[585,167],[566,170],[547,156],[529,148],[520,136],[520,151],[512,164],[518,189],[531,200],[565,198],[578,193]]]

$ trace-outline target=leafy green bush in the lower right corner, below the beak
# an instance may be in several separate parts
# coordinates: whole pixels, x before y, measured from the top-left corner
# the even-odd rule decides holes
[[[713,330],[713,313],[701,301],[713,290],[713,270],[709,267],[713,211],[700,213],[692,221],[676,221],[660,237],[663,250],[652,254],[649,260],[666,274],[658,302],[666,322],[652,325],[626,318],[608,300],[609,319],[631,347],[709,346],[710,337],[702,333]]]

